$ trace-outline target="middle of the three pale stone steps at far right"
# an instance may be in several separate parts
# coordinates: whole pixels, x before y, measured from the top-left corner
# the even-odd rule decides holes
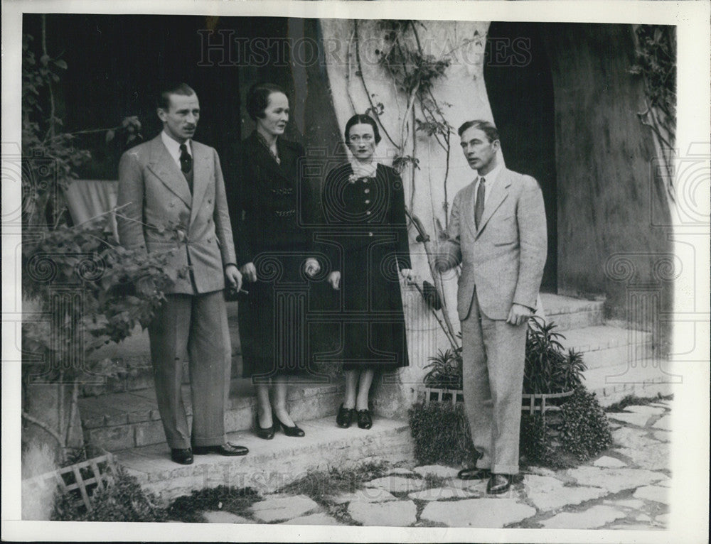
[[[588,369],[607,368],[654,356],[651,332],[595,325],[562,332],[566,349],[582,352]]]

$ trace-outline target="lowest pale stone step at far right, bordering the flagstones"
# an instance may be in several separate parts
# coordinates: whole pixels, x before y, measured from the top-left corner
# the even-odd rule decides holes
[[[585,372],[584,385],[588,391],[597,395],[602,406],[609,406],[628,395],[671,395],[682,381],[682,376],[675,374],[673,364],[669,361],[642,359],[589,369]]]

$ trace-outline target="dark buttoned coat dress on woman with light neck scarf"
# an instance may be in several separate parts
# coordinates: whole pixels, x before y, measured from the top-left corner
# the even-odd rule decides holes
[[[321,193],[324,238],[332,270],[341,271],[338,321],[343,368],[407,366],[400,270],[411,268],[405,194],[395,170],[378,164],[375,178],[351,183],[350,164],[331,170]]]

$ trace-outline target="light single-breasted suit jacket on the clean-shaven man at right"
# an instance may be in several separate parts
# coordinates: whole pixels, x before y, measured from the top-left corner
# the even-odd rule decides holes
[[[460,320],[469,315],[475,289],[483,314],[506,320],[513,303],[536,305],[547,251],[543,197],[535,179],[503,168],[476,229],[474,185],[454,197],[447,241],[438,260],[444,268],[462,265],[457,291]]]

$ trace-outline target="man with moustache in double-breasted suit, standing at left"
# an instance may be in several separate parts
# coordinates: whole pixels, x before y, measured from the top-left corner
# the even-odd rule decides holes
[[[119,239],[129,249],[173,249],[176,283],[149,326],[156,396],[171,458],[245,455],[225,439],[225,401],[232,361],[225,278],[240,289],[235,246],[217,152],[193,141],[200,104],[184,83],[164,87],[158,100],[163,131],[129,149],[119,163]],[[178,271],[188,269],[183,277]],[[188,351],[192,433],[181,395]]]

